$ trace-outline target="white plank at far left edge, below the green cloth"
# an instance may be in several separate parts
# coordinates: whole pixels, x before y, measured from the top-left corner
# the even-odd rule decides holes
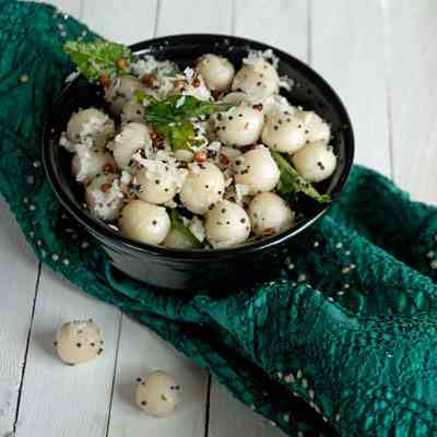
[[[0,199],[0,435],[13,430],[38,262]]]

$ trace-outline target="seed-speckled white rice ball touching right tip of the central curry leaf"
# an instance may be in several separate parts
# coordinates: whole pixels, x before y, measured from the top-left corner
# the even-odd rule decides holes
[[[248,145],[261,135],[264,116],[262,110],[240,104],[215,117],[215,132],[226,145]]]

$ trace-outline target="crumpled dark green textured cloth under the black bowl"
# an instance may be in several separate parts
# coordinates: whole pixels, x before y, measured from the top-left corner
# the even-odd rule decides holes
[[[437,435],[437,209],[355,167],[275,281],[215,299],[119,283],[40,165],[43,126],[72,69],[61,47],[78,37],[93,35],[51,7],[0,1],[0,192],[37,257],[291,436]]]

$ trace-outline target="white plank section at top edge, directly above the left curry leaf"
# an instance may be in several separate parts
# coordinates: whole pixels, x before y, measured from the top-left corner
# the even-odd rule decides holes
[[[107,39],[133,44],[153,35],[157,0],[86,0],[83,21]]]

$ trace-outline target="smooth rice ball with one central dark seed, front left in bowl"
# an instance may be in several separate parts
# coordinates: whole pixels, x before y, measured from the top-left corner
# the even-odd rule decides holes
[[[133,200],[122,209],[119,225],[123,237],[160,245],[170,231],[170,218],[164,206]]]

